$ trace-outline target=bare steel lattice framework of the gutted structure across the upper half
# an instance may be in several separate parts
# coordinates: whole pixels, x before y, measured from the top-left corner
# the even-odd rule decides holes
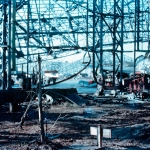
[[[0,3],[4,80],[9,81],[10,70],[23,68],[31,74],[38,55],[44,62],[43,70],[50,69],[52,62],[59,62],[61,65],[55,69],[63,72],[66,69],[60,58],[73,55],[77,59],[79,54],[85,54],[88,64],[93,66],[94,77],[97,68],[103,75],[103,67],[110,65],[113,80],[119,68],[121,83],[126,62],[133,61],[135,72],[136,54],[149,53],[148,0],[1,0]],[[126,53],[133,54],[133,59],[125,57]],[[82,70],[81,66],[82,62],[75,67],[75,73]]]

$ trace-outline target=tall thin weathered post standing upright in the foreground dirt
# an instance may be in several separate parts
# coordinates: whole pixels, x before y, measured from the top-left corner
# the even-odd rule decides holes
[[[39,66],[39,83],[38,83],[38,107],[39,107],[39,124],[41,128],[41,143],[44,142],[44,124],[43,124],[43,112],[42,112],[42,90],[41,90],[41,58],[38,56]]]

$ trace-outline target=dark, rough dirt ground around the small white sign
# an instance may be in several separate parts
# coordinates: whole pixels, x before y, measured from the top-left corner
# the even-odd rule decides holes
[[[0,106],[0,150],[96,150],[97,138],[90,127],[102,125],[111,129],[112,137],[102,139],[104,150],[150,149],[150,101],[99,100],[83,96],[84,106],[68,102],[44,105],[45,142],[40,142],[38,107],[32,105],[22,128],[19,122],[26,110],[10,113],[8,105]]]

